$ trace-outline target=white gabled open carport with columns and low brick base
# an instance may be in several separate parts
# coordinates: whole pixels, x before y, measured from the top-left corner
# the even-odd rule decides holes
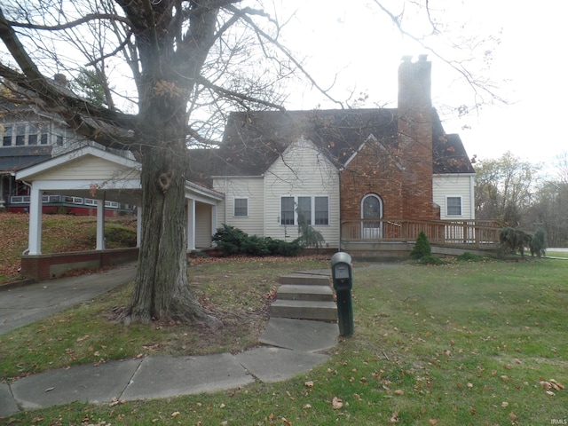
[[[21,273],[46,280],[77,268],[98,269],[138,258],[138,248],[106,250],[105,203],[115,201],[137,206],[137,246],[141,235],[141,164],[128,156],[93,146],[51,158],[16,173],[30,186],[28,248],[22,254]],[[45,193],[64,193],[97,201],[97,243],[90,252],[42,253],[42,203]],[[224,195],[186,182],[187,251],[209,248],[216,232],[217,203]]]

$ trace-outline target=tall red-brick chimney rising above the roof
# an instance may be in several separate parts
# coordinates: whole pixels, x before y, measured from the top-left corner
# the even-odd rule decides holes
[[[398,67],[398,149],[403,172],[406,218],[437,219],[432,201],[432,64],[405,56]]]

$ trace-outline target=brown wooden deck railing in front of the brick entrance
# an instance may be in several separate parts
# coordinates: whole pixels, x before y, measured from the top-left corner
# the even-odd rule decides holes
[[[425,233],[430,243],[483,248],[499,242],[504,225],[495,220],[343,220],[342,242],[416,241]]]

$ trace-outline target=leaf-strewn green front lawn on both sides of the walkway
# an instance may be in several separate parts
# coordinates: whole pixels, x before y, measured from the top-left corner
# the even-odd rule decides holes
[[[228,336],[222,335],[223,330],[216,336],[186,335],[183,345],[172,344],[172,335],[184,335],[191,327],[117,331],[115,327],[122,326],[107,323],[104,313],[123,303],[128,290],[122,288],[100,302],[0,337],[0,371],[4,380],[10,380],[12,375],[71,364],[75,360],[66,358],[66,350],[81,353],[83,346],[87,350],[78,356],[81,362],[94,351],[112,359],[138,353],[245,349],[262,331],[263,312],[280,273],[327,265],[312,260],[239,259],[192,268],[190,279],[204,302],[222,318],[236,312],[241,321],[254,324],[230,343],[224,343]],[[338,343],[332,358],[308,375],[211,395],[56,406],[14,415],[12,422],[545,425],[568,419],[567,390],[552,389],[549,394],[541,384],[568,383],[568,262],[355,266],[355,334]],[[99,326],[93,325],[97,318]],[[231,333],[235,329],[229,327]],[[117,340],[105,345],[111,335]],[[59,339],[67,340],[56,349]],[[202,344],[194,348],[189,339]],[[147,349],[147,343],[153,343],[154,349]],[[36,359],[41,360],[37,365],[23,361],[36,344],[37,357],[42,353]],[[122,347],[122,352],[108,350],[111,346]]]

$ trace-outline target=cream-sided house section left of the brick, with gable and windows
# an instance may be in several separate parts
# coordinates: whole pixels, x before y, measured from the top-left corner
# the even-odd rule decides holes
[[[338,247],[338,188],[335,165],[310,140],[298,138],[261,176],[213,177],[213,189],[225,193],[217,226],[293,241],[299,236],[298,208],[327,247]]]

